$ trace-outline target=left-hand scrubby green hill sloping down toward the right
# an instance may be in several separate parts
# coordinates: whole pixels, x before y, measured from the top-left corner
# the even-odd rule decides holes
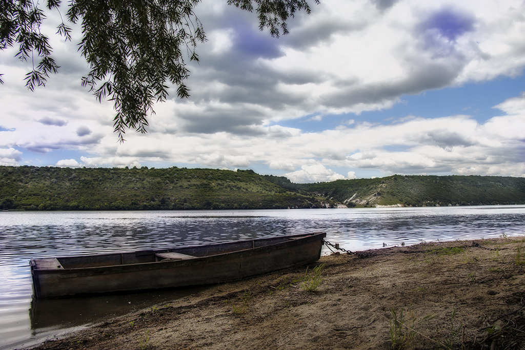
[[[322,197],[292,192],[274,182],[251,170],[0,166],[0,208],[263,209],[330,205]]]

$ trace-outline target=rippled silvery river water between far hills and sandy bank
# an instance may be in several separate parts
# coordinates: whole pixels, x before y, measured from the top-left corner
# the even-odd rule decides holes
[[[182,292],[44,300],[30,309],[31,257],[162,249],[313,231],[327,232],[327,240],[345,249],[364,250],[381,248],[383,243],[524,235],[523,222],[525,206],[4,212],[0,213],[0,348],[27,346],[57,330],[162,304]]]

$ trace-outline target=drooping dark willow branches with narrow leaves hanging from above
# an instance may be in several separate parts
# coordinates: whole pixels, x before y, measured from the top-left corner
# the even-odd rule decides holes
[[[66,22],[81,25],[79,51],[90,67],[82,85],[99,101],[114,103],[113,125],[120,141],[128,129],[146,132],[148,115],[154,113],[155,102],[166,100],[168,84],[176,87],[179,98],[190,96],[186,60],[198,61],[197,44],[206,40],[194,12],[200,2],[71,0],[67,4]],[[288,33],[286,20],[296,12],[310,13],[306,0],[228,0],[228,4],[256,12],[259,28],[268,28],[275,37]],[[60,13],[60,5],[60,0],[47,0],[45,6]],[[16,56],[32,63],[25,77],[29,90],[44,86],[59,68],[51,57],[49,38],[40,32],[45,13],[39,6],[33,0],[0,1],[0,49],[17,45]],[[62,20],[56,34],[70,40],[71,28]]]

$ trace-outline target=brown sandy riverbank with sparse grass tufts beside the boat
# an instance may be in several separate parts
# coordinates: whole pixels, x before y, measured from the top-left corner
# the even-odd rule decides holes
[[[321,283],[313,267],[322,264]],[[321,257],[103,322],[35,349],[523,348],[525,237]]]

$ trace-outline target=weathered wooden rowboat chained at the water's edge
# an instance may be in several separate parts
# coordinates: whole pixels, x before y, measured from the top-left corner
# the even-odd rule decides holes
[[[31,259],[35,298],[212,284],[317,261],[324,232],[194,247]]]

